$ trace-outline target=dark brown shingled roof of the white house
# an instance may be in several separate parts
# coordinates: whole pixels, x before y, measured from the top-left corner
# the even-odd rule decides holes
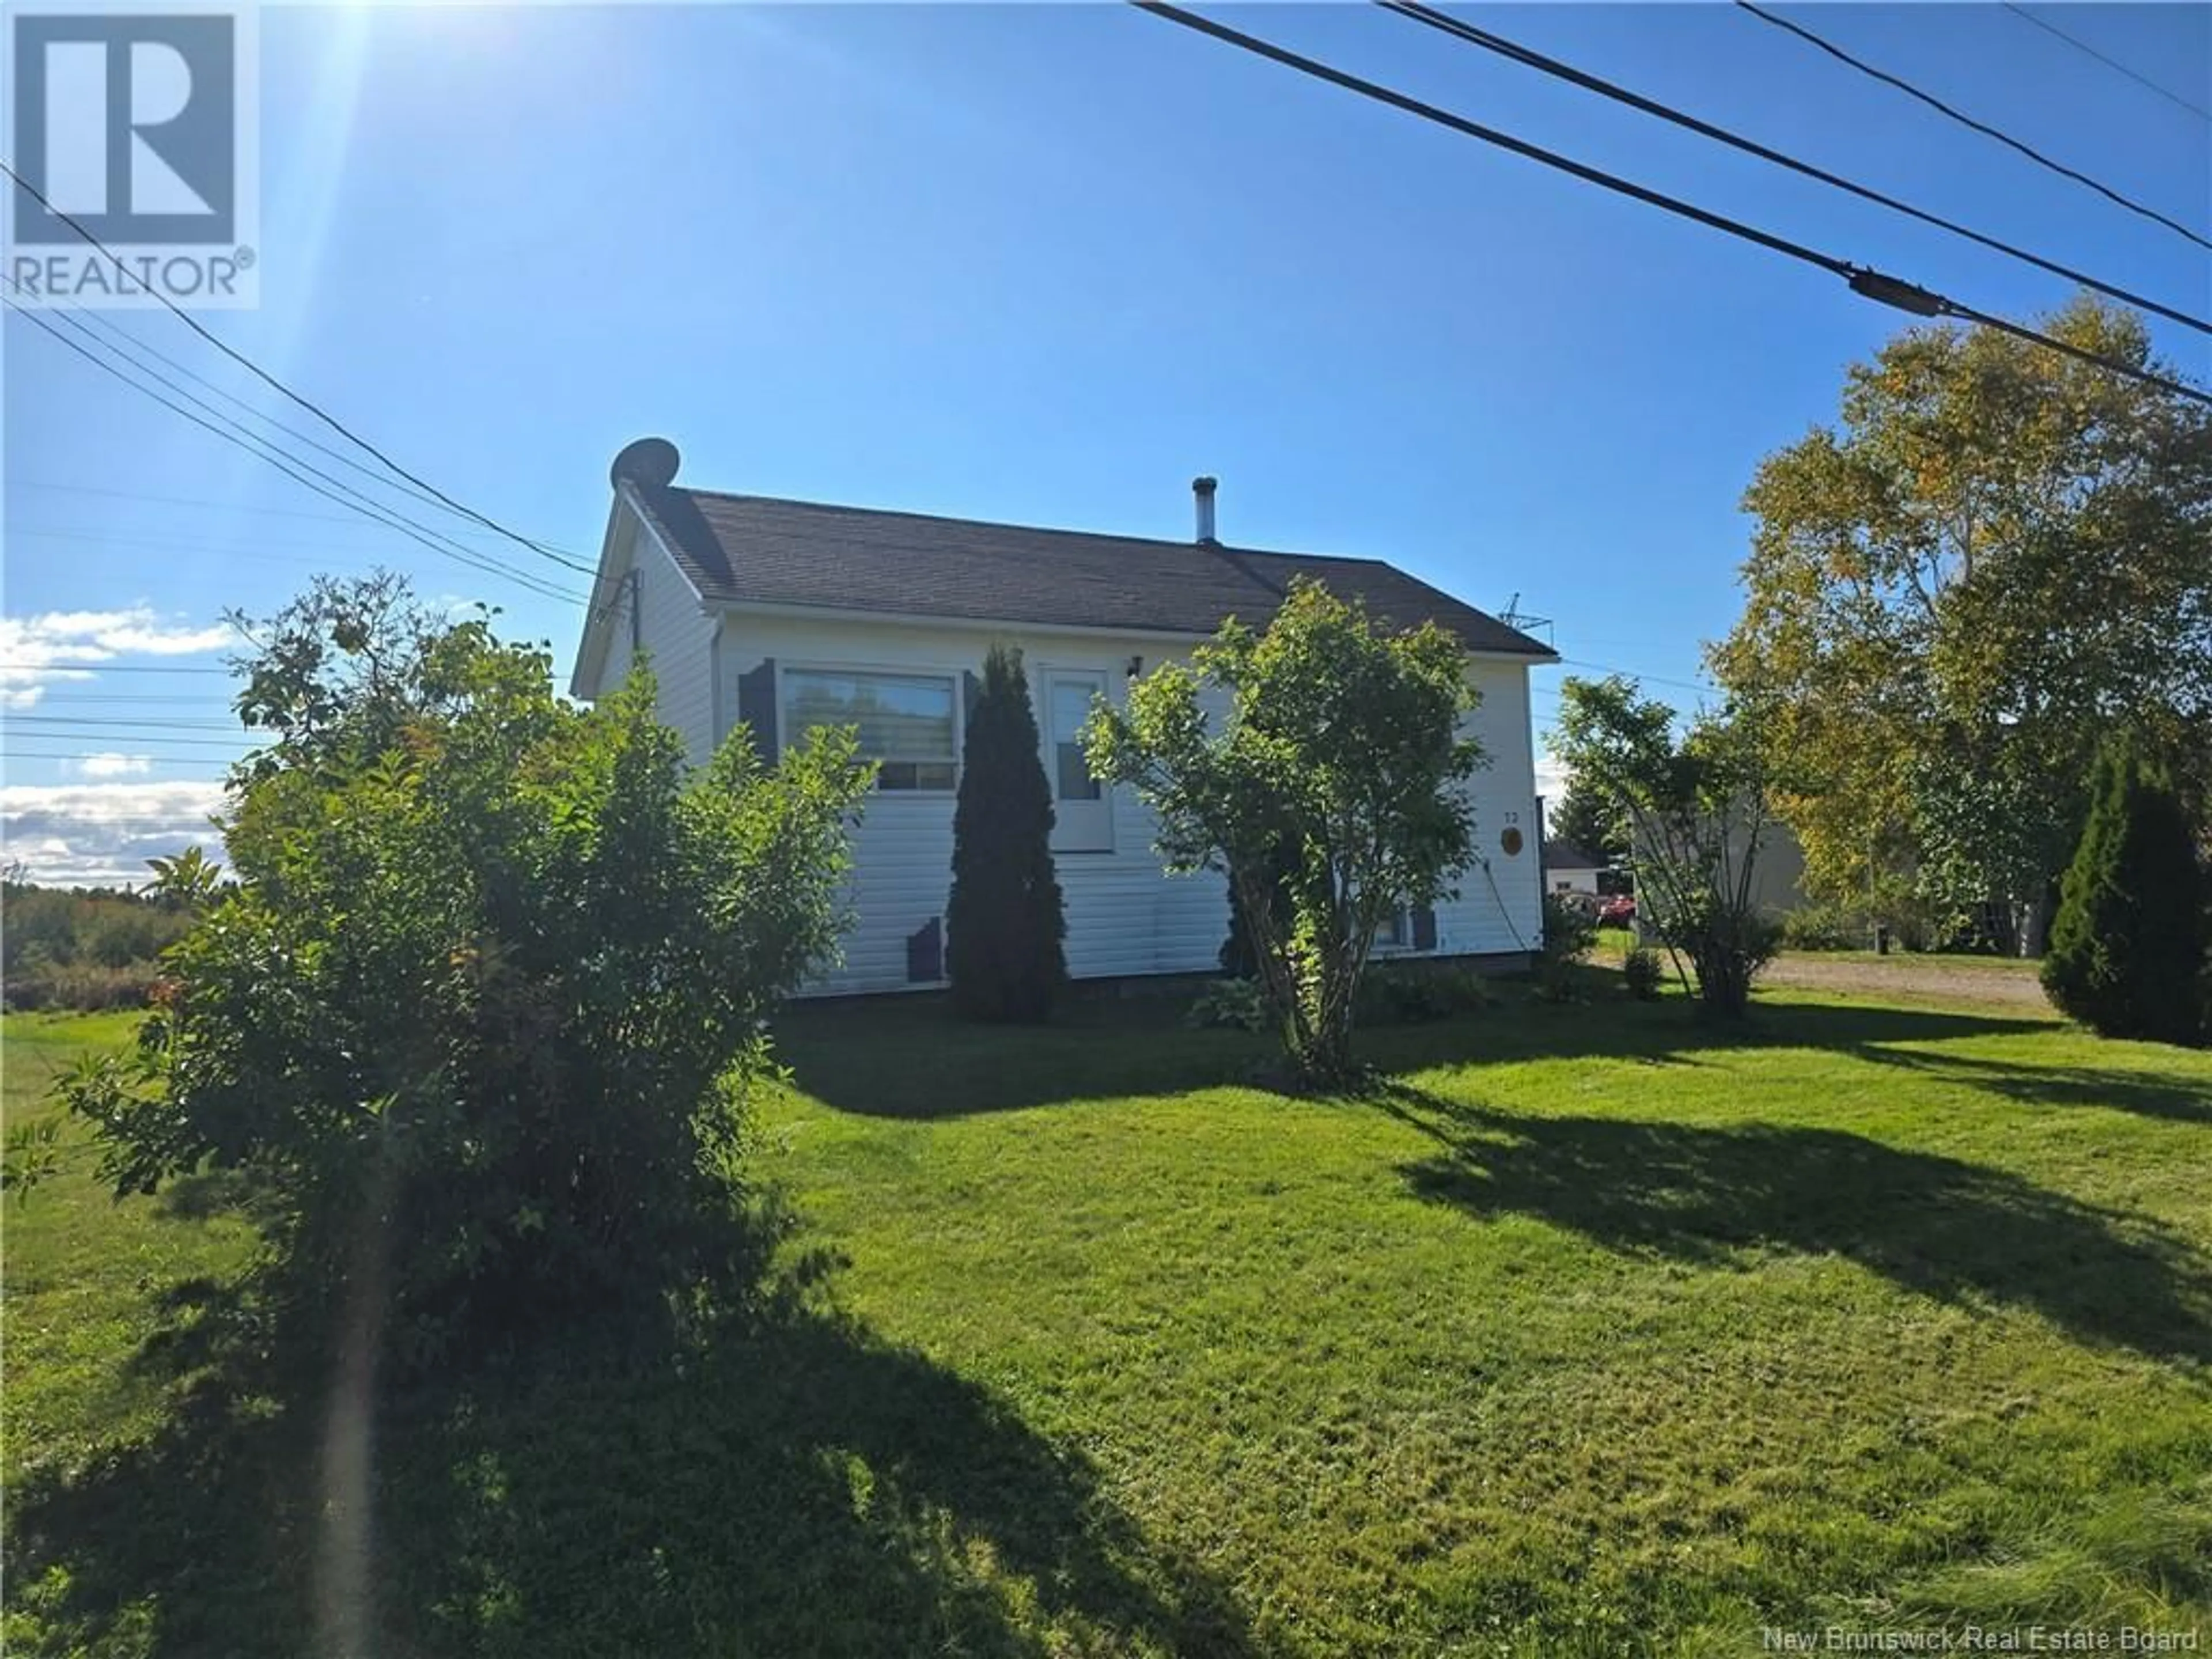
[[[984,524],[630,480],[684,573],[714,604],[1210,635],[1265,624],[1296,575],[1391,626],[1438,622],[1469,650],[1551,646],[1378,560]]]

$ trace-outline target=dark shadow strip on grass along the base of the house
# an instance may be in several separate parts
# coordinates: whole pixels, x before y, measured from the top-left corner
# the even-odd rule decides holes
[[[1506,984],[1500,1004],[1436,1024],[1376,1026],[1358,1053],[1391,1073],[1513,1060],[1630,1060],[1699,1064],[1728,1048],[1829,1048],[1889,1057],[1882,1044],[2048,1031],[2048,1020],[2000,1013],[1783,1002],[1754,1006],[1734,1026],[1699,1020],[1683,1002],[1606,998],[1553,1004]],[[869,1117],[964,1117],[1126,1095],[1254,1086],[1274,1040],[1192,1031],[1188,998],[1082,998],[1048,1026],[978,1026],[942,998],[796,1004],[776,1020],[776,1044],[799,1086],[827,1106]]]

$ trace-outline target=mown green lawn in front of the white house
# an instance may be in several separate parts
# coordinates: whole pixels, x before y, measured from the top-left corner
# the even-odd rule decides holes
[[[117,1035],[9,1020],[11,1110]],[[761,1166],[827,1305],[394,1400],[352,1575],[330,1425],[192,1340],[241,1223],[13,1208],[7,1650],[336,1650],[334,1584],[409,1655],[2212,1641],[2208,1053],[1509,991],[1312,1102],[1144,1002],[781,1035]]]

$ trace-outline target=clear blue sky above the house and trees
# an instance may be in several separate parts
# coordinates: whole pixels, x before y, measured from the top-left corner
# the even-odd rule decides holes
[[[1214,15],[1982,310],[2068,299],[1374,9]],[[2212,307],[2212,254],[1734,7],[1462,15]],[[2212,126],[2011,11],[1792,15],[2212,221]],[[2212,9],[2037,15],[2212,104]],[[1752,469],[1907,321],[1113,4],[268,7],[261,168],[261,310],[210,327],[557,546],[595,555],[606,462],[641,434],[706,487],[1137,535],[1188,535],[1212,471],[1223,540],[1389,557],[1486,608],[1517,593],[1575,664],[1681,701],[1736,611]],[[175,319],[115,321],[330,438]],[[2212,376],[2203,336],[2157,334]],[[575,650],[573,606],[349,522],[20,316],[4,380],[4,805],[42,874],[135,876],[206,810],[237,750],[206,672],[226,606],[383,562],[498,602],[562,668]],[[24,668],[62,659],[91,668]],[[1537,677],[1540,726],[1564,672]]]

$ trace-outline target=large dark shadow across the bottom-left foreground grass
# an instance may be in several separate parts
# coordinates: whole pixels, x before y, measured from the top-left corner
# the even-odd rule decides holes
[[[179,1385],[159,1433],[18,1489],[24,1650],[1254,1652],[1225,1593],[1152,1548],[1077,1453],[927,1358],[799,1314],[387,1400],[369,1630],[332,1644],[319,1409],[246,1380],[261,1336],[239,1307],[206,1298],[201,1327],[239,1349]]]

